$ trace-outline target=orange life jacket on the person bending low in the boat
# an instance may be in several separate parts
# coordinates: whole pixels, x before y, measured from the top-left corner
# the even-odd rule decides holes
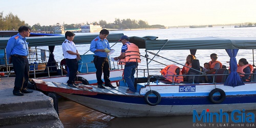
[[[179,72],[179,74],[177,74],[177,71]],[[176,66],[176,65],[169,65],[167,67],[165,67],[164,69],[162,69],[160,71],[160,73],[162,75],[164,75],[164,77],[166,77],[166,80],[171,81],[171,82],[183,82],[183,76],[181,71],[180,71],[180,67]],[[180,76],[173,76],[173,75],[180,75]]]

